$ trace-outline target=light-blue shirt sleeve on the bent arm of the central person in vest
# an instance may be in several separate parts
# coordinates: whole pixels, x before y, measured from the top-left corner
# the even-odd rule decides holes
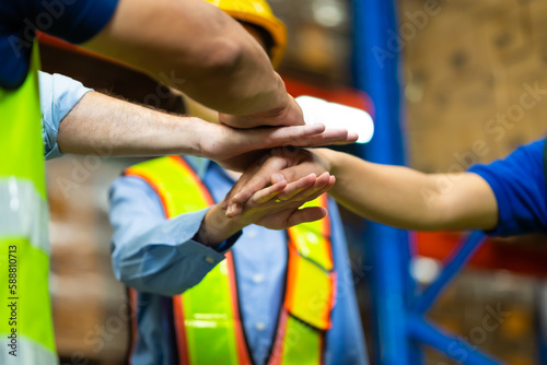
[[[221,252],[194,240],[207,210],[166,220],[155,191],[138,177],[118,178],[109,198],[114,273],[141,292],[183,293],[222,261],[241,236],[223,243]]]

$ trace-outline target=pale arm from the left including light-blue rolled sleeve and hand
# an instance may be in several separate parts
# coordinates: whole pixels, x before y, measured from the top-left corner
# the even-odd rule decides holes
[[[234,129],[175,116],[96,93],[60,74],[39,72],[46,158],[191,154],[243,170],[263,149],[351,143],[357,134],[322,125]],[[256,151],[256,152],[255,152]]]

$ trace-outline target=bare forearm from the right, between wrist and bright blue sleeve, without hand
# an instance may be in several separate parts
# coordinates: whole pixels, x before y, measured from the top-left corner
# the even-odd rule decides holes
[[[337,182],[330,195],[354,213],[407,229],[491,228],[496,200],[474,174],[423,174],[322,150]]]

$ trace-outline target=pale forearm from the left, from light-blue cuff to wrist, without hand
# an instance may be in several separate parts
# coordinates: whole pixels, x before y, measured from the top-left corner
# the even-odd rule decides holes
[[[60,122],[57,143],[75,154],[199,155],[203,123],[90,92]]]

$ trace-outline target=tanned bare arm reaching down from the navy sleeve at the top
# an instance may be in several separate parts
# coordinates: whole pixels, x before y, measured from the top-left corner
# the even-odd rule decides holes
[[[258,43],[206,1],[120,0],[108,25],[84,46],[221,113],[266,113],[269,125],[303,125]]]

